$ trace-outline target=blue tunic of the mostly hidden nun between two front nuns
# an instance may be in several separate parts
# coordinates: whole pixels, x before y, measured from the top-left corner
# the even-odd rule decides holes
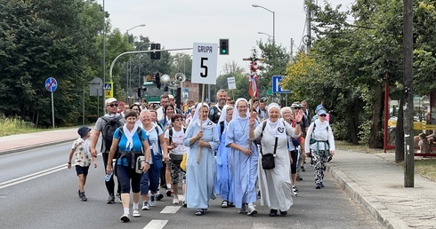
[[[220,138],[220,146],[218,146],[218,151],[216,153],[216,193],[218,193],[222,201],[233,202],[233,192],[230,192],[231,187],[231,173],[229,165],[229,150],[230,148],[226,146],[226,131],[227,127],[224,123],[222,135]],[[221,125],[216,127],[218,135],[221,134]]]

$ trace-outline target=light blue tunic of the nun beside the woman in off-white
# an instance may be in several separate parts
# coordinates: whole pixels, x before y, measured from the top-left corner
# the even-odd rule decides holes
[[[237,118],[230,121],[226,131],[226,146],[229,146],[230,143],[235,143],[248,148],[248,122],[248,118]],[[231,147],[229,151],[230,171],[233,182],[232,192],[235,207],[238,209],[242,208],[242,203],[257,201],[256,179],[259,153],[254,142],[252,142],[251,151],[251,155],[246,155]]]

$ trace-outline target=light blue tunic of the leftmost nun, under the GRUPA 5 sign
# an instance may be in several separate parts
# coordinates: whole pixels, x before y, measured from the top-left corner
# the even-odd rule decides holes
[[[216,164],[214,151],[219,144],[219,136],[216,127],[203,129],[203,140],[208,142],[211,148],[201,147],[201,161],[197,163],[198,141],[190,145],[190,138],[197,135],[200,127],[197,122],[191,122],[183,138],[183,144],[190,147],[188,162],[186,163],[186,203],[190,209],[207,209],[209,200],[215,199],[214,180],[216,176]]]

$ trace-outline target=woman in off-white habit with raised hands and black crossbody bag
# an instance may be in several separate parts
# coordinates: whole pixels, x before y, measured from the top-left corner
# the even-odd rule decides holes
[[[294,195],[289,176],[291,165],[287,151],[287,136],[297,138],[301,134],[300,125],[293,128],[289,123],[280,120],[280,107],[276,103],[268,106],[268,119],[254,130],[257,114],[250,115],[250,139],[261,140],[262,154],[275,154],[275,167],[270,170],[262,169],[262,155],[259,157],[259,189],[261,190],[261,205],[270,208],[270,217],[287,215],[291,208]],[[302,122],[303,111],[295,114],[297,123]]]

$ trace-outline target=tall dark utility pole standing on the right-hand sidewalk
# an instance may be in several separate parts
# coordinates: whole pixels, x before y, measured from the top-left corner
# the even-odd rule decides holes
[[[404,59],[404,154],[405,165],[404,170],[404,186],[414,186],[414,170],[415,170],[415,147],[414,147],[414,132],[413,132],[413,2],[412,0],[403,0],[404,15],[403,15],[403,59]]]

